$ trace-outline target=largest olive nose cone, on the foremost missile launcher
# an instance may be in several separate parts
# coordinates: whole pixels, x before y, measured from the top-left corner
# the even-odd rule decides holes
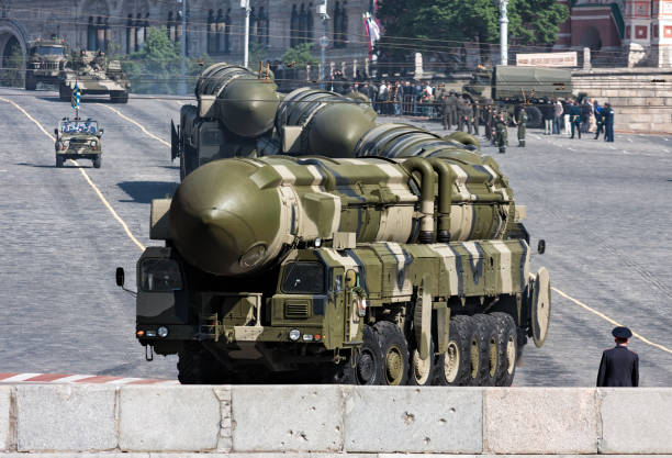
[[[215,160],[179,186],[170,204],[170,231],[189,264],[239,276],[273,260],[282,206],[277,188],[259,189],[250,179],[256,170],[243,160]]]

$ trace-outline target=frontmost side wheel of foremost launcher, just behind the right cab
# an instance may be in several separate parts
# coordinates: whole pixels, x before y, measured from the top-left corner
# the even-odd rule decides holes
[[[326,368],[325,381],[338,384],[383,384],[382,351],[373,328],[363,325],[363,338],[345,361]]]

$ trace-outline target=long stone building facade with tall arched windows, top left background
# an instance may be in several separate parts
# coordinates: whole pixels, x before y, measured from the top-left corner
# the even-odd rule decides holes
[[[27,42],[56,35],[78,48],[131,54],[142,48],[148,27],[165,29],[170,40],[186,37],[190,56],[211,55],[215,60],[240,63],[245,35],[245,10],[238,0],[184,0],[182,26],[180,0],[0,0],[0,53],[12,46],[25,52]],[[323,22],[320,0],[251,0],[250,49],[278,59],[299,43],[318,40]],[[326,55],[329,60],[366,59],[369,45],[363,14],[371,0],[328,0]]]

